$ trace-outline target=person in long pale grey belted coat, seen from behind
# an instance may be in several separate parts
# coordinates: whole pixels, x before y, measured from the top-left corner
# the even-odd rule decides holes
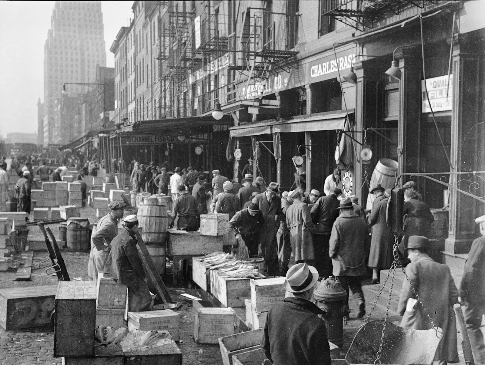
[[[288,193],[293,199],[286,210],[286,224],[290,229],[291,250],[295,257],[295,263],[306,262],[312,265],[315,260],[313,250],[313,222],[308,205],[301,201],[301,193],[295,189]]]

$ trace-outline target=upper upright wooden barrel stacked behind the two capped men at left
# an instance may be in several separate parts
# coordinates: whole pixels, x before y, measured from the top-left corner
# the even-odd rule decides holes
[[[143,228],[142,239],[145,243],[164,243],[168,228],[167,209],[158,204],[140,204],[138,226]]]

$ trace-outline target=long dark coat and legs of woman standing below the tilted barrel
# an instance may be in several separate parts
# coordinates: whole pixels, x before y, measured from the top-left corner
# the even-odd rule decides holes
[[[374,202],[372,205],[369,224],[372,226],[371,251],[369,253],[369,267],[372,267],[372,284],[379,282],[379,270],[389,269],[392,265],[392,247],[394,236],[386,222],[386,211],[389,198]]]

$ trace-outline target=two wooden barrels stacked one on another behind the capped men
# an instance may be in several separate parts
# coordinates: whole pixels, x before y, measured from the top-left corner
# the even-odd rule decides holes
[[[112,190],[113,191],[113,190]],[[165,272],[168,216],[164,205],[157,198],[145,198],[139,205],[138,225],[142,239],[159,274]]]

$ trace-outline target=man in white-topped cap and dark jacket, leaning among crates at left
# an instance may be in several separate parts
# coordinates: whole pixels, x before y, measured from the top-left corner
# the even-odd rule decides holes
[[[138,218],[135,214],[123,219],[124,228],[111,241],[113,276],[118,284],[128,287],[128,310],[145,312],[151,310],[151,294],[146,285],[143,262],[138,255],[136,232]]]

